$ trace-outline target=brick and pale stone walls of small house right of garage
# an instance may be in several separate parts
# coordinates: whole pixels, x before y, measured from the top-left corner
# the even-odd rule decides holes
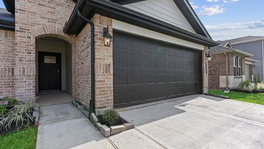
[[[234,76],[234,56],[242,59],[242,75]],[[228,86],[235,87],[239,82],[245,79],[245,56],[235,53],[227,53],[228,59]],[[238,64],[238,59],[237,59]],[[226,56],[224,53],[212,54],[212,60],[209,62],[209,88],[226,87]]]

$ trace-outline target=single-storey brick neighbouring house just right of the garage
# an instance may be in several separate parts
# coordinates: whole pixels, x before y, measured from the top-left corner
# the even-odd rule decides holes
[[[209,88],[233,88],[242,80],[252,79],[253,55],[232,47],[229,41],[210,48]]]

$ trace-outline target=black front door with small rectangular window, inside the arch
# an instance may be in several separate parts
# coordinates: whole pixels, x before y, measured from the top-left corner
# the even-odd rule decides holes
[[[39,92],[61,90],[61,54],[39,52]]]

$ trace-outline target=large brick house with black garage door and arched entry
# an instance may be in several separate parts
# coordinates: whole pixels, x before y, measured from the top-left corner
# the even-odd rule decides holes
[[[206,52],[219,43],[187,0],[3,1],[0,95],[68,91],[98,114],[208,92]]]

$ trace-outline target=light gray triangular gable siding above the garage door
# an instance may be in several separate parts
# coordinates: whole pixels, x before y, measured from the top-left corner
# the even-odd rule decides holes
[[[124,6],[174,26],[195,32],[173,0],[146,0]]]

